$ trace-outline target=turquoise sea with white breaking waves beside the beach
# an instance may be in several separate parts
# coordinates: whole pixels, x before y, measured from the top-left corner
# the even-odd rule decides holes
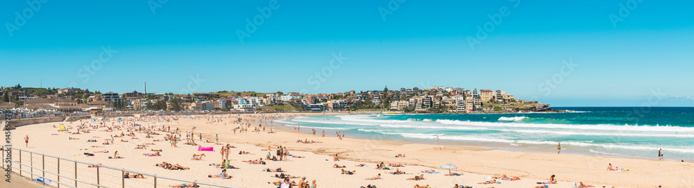
[[[354,114],[280,121],[334,136],[510,151],[694,160],[694,108],[554,108],[569,113]]]

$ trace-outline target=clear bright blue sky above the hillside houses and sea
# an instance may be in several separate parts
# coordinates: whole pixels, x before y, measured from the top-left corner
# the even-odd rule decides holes
[[[158,2],[4,2],[0,85],[121,93],[141,92],[145,81],[148,92],[174,93],[444,85],[553,106],[638,106],[659,89],[651,105],[694,105],[675,99],[694,96],[693,1]]]

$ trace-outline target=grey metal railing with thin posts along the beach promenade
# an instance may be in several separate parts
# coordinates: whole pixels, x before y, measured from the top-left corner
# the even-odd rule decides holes
[[[15,154],[15,151],[17,152]],[[196,180],[184,180],[179,178],[171,178],[167,176],[158,176],[156,174],[142,173],[137,171],[130,171],[126,169],[117,169],[111,166],[103,166],[100,164],[93,164],[89,162],[81,162],[77,160],[69,160],[62,157],[56,157],[52,155],[46,155],[43,153],[36,153],[33,151],[26,151],[19,148],[12,148],[5,146],[4,150],[0,153],[1,156],[6,157],[8,155],[12,156],[12,160],[6,163],[5,159],[1,160],[3,169],[9,164],[12,164],[11,171],[18,173],[19,176],[24,176],[35,180],[35,178],[43,178],[44,185],[49,185],[52,187],[169,187],[169,185],[180,185],[185,183],[186,185],[197,185],[200,187],[224,187],[224,188],[240,188],[232,187],[228,185],[217,185],[207,182],[198,182]],[[26,159],[28,155],[28,159]],[[22,158],[24,156],[24,159]],[[46,160],[46,157],[49,159]],[[37,160],[35,160],[38,158]],[[18,159],[18,160],[17,160]],[[28,163],[27,163],[28,160]],[[55,161],[53,163],[53,161]],[[62,164],[61,164],[62,163]],[[16,165],[18,164],[18,165]],[[48,166],[46,166],[48,164]],[[74,164],[74,165],[70,165]],[[93,168],[87,167],[87,165],[81,165],[82,168],[78,168],[78,164],[87,164],[89,166],[96,166]],[[62,168],[61,168],[62,166]],[[48,167],[48,169],[46,169]],[[65,167],[68,167],[66,170]],[[55,171],[53,171],[55,169]],[[62,169],[62,171],[61,171]],[[81,171],[78,171],[81,169]],[[47,173],[47,174],[46,174]],[[147,179],[139,178],[125,178],[125,173],[142,174],[144,177],[151,177]],[[46,184],[45,180],[51,180],[50,184]],[[128,179],[126,182],[125,179]],[[127,185],[126,185],[127,183]]]

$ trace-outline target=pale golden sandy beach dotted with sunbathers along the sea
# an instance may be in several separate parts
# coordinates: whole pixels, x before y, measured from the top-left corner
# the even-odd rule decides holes
[[[275,172],[266,172],[264,169],[281,168],[285,174],[298,177],[306,177],[307,182],[316,180],[316,187],[360,187],[366,185],[376,185],[377,187],[414,187],[415,185],[429,185],[430,187],[453,187],[453,185],[476,186],[476,187],[536,187],[536,182],[548,182],[550,176],[555,175],[559,181],[548,187],[573,187],[574,182],[583,182],[586,185],[595,187],[693,187],[694,178],[691,172],[694,171],[692,162],[674,162],[658,160],[636,160],[612,157],[595,157],[585,155],[557,155],[551,153],[526,153],[514,151],[486,150],[474,147],[456,146],[437,146],[435,140],[431,144],[407,144],[402,142],[391,142],[382,140],[379,137],[371,139],[356,139],[346,135],[344,139],[338,139],[333,130],[326,130],[325,137],[321,136],[321,131],[316,129],[316,135],[299,133],[290,128],[278,128],[277,125],[269,126],[268,121],[258,121],[260,119],[282,119],[289,116],[303,114],[284,114],[282,116],[269,117],[261,115],[215,115],[215,116],[181,116],[176,117],[149,117],[135,119],[124,117],[124,121],[113,118],[110,121],[103,121],[104,126],[121,126],[112,132],[105,132],[106,128],[89,128],[90,133],[78,135],[66,132],[58,132],[60,124],[72,127],[70,132],[76,132],[76,127],[80,123],[87,126],[98,126],[99,121],[75,121],[75,122],[53,122],[40,123],[29,126],[21,126],[12,132],[12,143],[15,147],[56,155],[72,160],[83,162],[101,163],[106,166],[113,166],[144,173],[158,174],[159,176],[170,176],[187,180],[198,180],[201,182],[211,182],[220,185],[232,185],[238,187],[277,187],[269,182],[279,181],[275,178]],[[242,124],[234,123],[242,118]],[[133,120],[130,120],[133,119]],[[248,123],[248,124],[246,124]],[[254,132],[254,128],[261,123],[265,127],[259,132]],[[160,135],[151,135],[146,138],[143,131],[135,131],[134,124],[139,124],[140,128],[165,128],[180,130],[180,141],[178,147],[171,147],[169,142],[164,141],[167,133],[154,131]],[[248,128],[248,133],[236,132],[233,128],[242,126]],[[130,126],[130,129],[127,129]],[[193,130],[193,128],[195,128]],[[275,133],[268,133],[270,128]],[[84,130],[84,129],[83,129]],[[133,132],[135,131],[135,132]],[[193,131],[194,141],[202,147],[213,147],[214,151],[197,151],[198,146],[186,145],[185,133]],[[114,144],[103,145],[105,139],[110,139],[112,135],[116,137]],[[128,136],[133,133],[135,138]],[[57,135],[53,135],[57,134]],[[24,136],[30,137],[28,148],[24,147]],[[208,175],[220,173],[221,169],[209,166],[212,163],[221,163],[220,148],[223,145],[207,143],[199,140],[199,135],[204,140],[215,142],[216,135],[219,136],[219,144],[230,144],[235,146],[230,150],[230,164],[239,169],[228,169],[227,173],[233,178],[219,179],[208,178]],[[69,139],[69,137],[78,139]],[[98,137],[98,138],[97,138]],[[96,139],[96,142],[87,142],[89,139]],[[121,139],[127,142],[121,142]],[[162,142],[154,142],[160,139]],[[305,144],[297,140],[315,141],[320,143]],[[21,144],[20,144],[21,143]],[[136,149],[138,145],[146,145],[146,149]],[[97,147],[92,147],[97,146]],[[245,160],[258,160],[266,158],[270,153],[271,157],[276,155],[278,146],[287,148],[289,154],[301,157],[288,157],[286,161],[264,160],[266,164],[248,164]],[[263,151],[270,147],[273,151]],[[161,149],[161,156],[146,156],[144,153],[153,153],[151,149]],[[95,151],[108,151],[108,153],[95,153]],[[121,159],[109,159],[114,152],[118,151]],[[240,151],[252,153],[251,155],[239,155]],[[83,153],[93,153],[94,156],[85,156]],[[192,160],[194,154],[205,154],[203,160]],[[333,155],[339,157],[340,161],[333,161]],[[393,157],[393,155],[403,154],[405,157]],[[189,167],[188,170],[172,171],[162,169],[155,164],[169,162]],[[402,167],[389,167],[389,170],[375,169],[375,166],[384,164],[403,164]],[[620,166],[629,171],[607,171],[607,164]],[[335,164],[346,166],[345,168],[333,168]],[[356,166],[365,164],[366,166]],[[444,164],[454,164],[458,169],[452,170],[462,173],[462,176],[444,176],[448,170],[441,169],[439,166]],[[93,171],[87,166],[78,166],[85,171]],[[341,174],[341,170],[355,171],[353,175]],[[405,174],[394,175],[396,169],[404,171]],[[423,173],[422,171],[435,170],[438,173]],[[110,173],[110,172],[103,172]],[[112,172],[115,175],[112,183],[120,183],[120,172]],[[381,174],[380,180],[366,180]],[[493,185],[481,185],[478,182],[492,180],[491,176],[507,175],[509,177],[518,176],[521,180],[498,180],[500,183]],[[407,180],[415,176],[424,175],[424,180]],[[92,178],[93,174],[78,173],[78,176]],[[301,178],[292,178],[298,182]],[[128,179],[126,187],[138,187],[151,183],[148,179]],[[161,183],[167,181],[162,180]],[[175,182],[171,182],[174,184]],[[55,184],[54,184],[55,185]],[[160,185],[160,187],[162,187]]]

